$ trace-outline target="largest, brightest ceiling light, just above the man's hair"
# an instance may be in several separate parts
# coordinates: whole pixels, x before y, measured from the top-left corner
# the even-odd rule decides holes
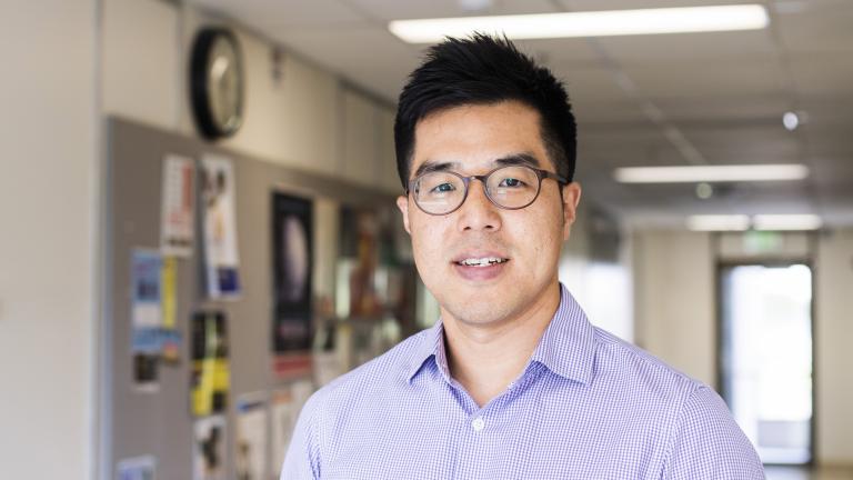
[[[764,7],[752,3],[394,20],[388,29],[409,43],[434,43],[444,37],[462,38],[473,32],[505,34],[510,39],[522,40],[756,30],[765,28],[769,22]]]

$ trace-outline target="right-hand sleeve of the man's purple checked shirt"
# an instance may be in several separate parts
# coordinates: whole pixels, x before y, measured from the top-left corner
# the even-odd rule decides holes
[[[764,468],[723,399],[703,386],[679,416],[661,479],[763,480]]]

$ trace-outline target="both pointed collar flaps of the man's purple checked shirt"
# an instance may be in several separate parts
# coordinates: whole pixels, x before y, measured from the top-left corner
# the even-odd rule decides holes
[[[412,363],[407,373],[408,382],[411,383],[431,357],[435,358],[435,363],[444,379],[450,381],[444,350],[444,327],[441,319],[420,334],[421,338],[411,357]],[[560,377],[589,383],[592,380],[594,356],[595,329],[574,297],[561,283],[560,307],[545,328],[530,361],[542,363]]]

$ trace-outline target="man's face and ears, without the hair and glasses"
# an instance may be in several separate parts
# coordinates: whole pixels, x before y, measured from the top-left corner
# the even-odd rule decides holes
[[[523,156],[535,161],[532,167],[554,172],[535,110],[515,101],[462,106],[417,124],[410,176],[424,164],[484,174],[500,167],[501,159]],[[505,210],[489,201],[482,182],[472,180],[464,203],[445,216],[424,213],[411,193],[397,204],[412,237],[418,271],[444,319],[496,326],[523,318],[556,294],[560,249],[579,199],[576,183],[563,188],[561,200],[559,183],[545,179],[532,204]],[[505,261],[462,264],[484,258]]]

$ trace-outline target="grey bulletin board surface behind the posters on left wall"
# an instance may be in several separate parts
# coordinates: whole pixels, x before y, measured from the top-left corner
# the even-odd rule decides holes
[[[160,364],[152,388],[140,389],[131,353],[134,308],[131,259],[134,251],[157,251],[161,246],[163,159],[169,154],[191,159],[197,167],[210,154],[232,161],[240,294],[228,301],[211,301],[205,296],[199,246],[201,232],[197,229],[192,253],[175,260],[174,328],[181,334],[179,359],[174,364]],[[222,439],[225,450],[220,460],[224,469],[222,478],[237,479],[240,460],[233,436],[238,399],[255,392],[269,396],[289,382],[275,377],[271,369],[272,192],[308,199],[323,197],[349,206],[390,203],[393,199],[345,181],[298,171],[119,118],[108,122],[106,177],[101,338],[104,354],[98,413],[104,478],[118,478],[122,462],[127,466],[150,459],[155,463],[155,479],[193,479],[193,429],[198,427],[190,400],[193,341],[190,323],[193,311],[208,308],[220,310],[228,318],[230,388]],[[194,188],[198,189],[198,184]],[[198,191],[194,194],[198,199]],[[273,433],[268,430],[264,434],[267,444],[271,446]],[[275,454],[267,451],[265,458]],[[277,478],[277,466],[268,466],[260,478]]]

